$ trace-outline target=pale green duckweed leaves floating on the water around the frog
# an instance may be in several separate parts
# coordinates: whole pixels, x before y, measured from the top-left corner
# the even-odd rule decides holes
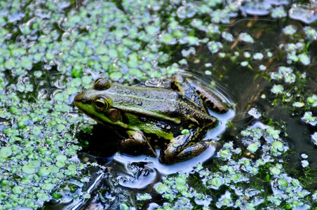
[[[303,123],[315,126],[312,109],[317,106],[316,94],[304,92],[302,84],[307,79],[305,68],[313,62],[309,45],[316,41],[316,29],[288,25],[281,32],[289,39],[278,45],[281,53],[270,52],[274,49],[242,53],[243,46],[252,49],[258,36],[249,26],[238,34],[223,27],[240,11],[250,15],[256,10],[272,18],[284,18],[281,24],[285,24],[285,17],[298,18],[299,10],[307,8],[269,1],[239,3],[88,1],[77,8],[60,1],[2,3],[1,9],[6,12],[0,18],[0,209],[41,208],[43,202],[62,199],[65,194],[59,192],[68,187],[60,191],[56,188],[70,180],[76,182],[84,167],[76,158],[81,147],[74,133],[79,132],[76,127],[91,133],[93,125],[93,120],[72,116],[76,92],[100,77],[133,83],[134,79],[171,75],[180,66],[189,65],[191,57],[199,57],[204,46],[217,59],[230,56],[242,67],[261,71],[259,76],[274,82],[270,83],[274,84],[271,92],[276,94],[272,105],[290,102]],[[232,50],[226,43],[232,44]],[[264,63],[269,58],[287,62],[276,68]],[[205,75],[217,75],[217,61],[205,67]],[[250,116],[256,118],[257,114]],[[317,144],[316,132],[309,135]],[[179,173],[156,183],[156,192],[168,200],[161,207],[257,209],[264,207],[264,200],[271,208],[281,204],[286,204],[285,209],[307,207],[308,192],[299,181],[287,176],[281,165],[272,166],[277,160],[283,162],[281,155],[288,152],[277,127],[250,127],[241,131],[238,140],[241,145],[236,141],[224,144],[212,169],[198,165],[196,174]],[[302,166],[309,167],[309,162],[302,160]],[[267,195],[261,185],[252,183],[255,175],[262,179],[265,174],[269,192],[274,191],[274,195]],[[196,175],[202,186],[189,185]],[[89,181],[87,177],[81,180]],[[198,193],[198,188],[207,193]],[[83,193],[81,197],[89,199],[90,195]],[[311,197],[316,200],[316,193]],[[151,195],[140,194],[139,199],[151,200]],[[121,207],[129,209],[125,203]]]

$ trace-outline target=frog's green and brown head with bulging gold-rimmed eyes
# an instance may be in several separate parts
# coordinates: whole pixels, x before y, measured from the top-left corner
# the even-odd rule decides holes
[[[109,80],[97,79],[92,88],[76,94],[75,106],[99,123],[120,124],[121,113],[112,107],[112,99],[107,94],[111,86]]]

